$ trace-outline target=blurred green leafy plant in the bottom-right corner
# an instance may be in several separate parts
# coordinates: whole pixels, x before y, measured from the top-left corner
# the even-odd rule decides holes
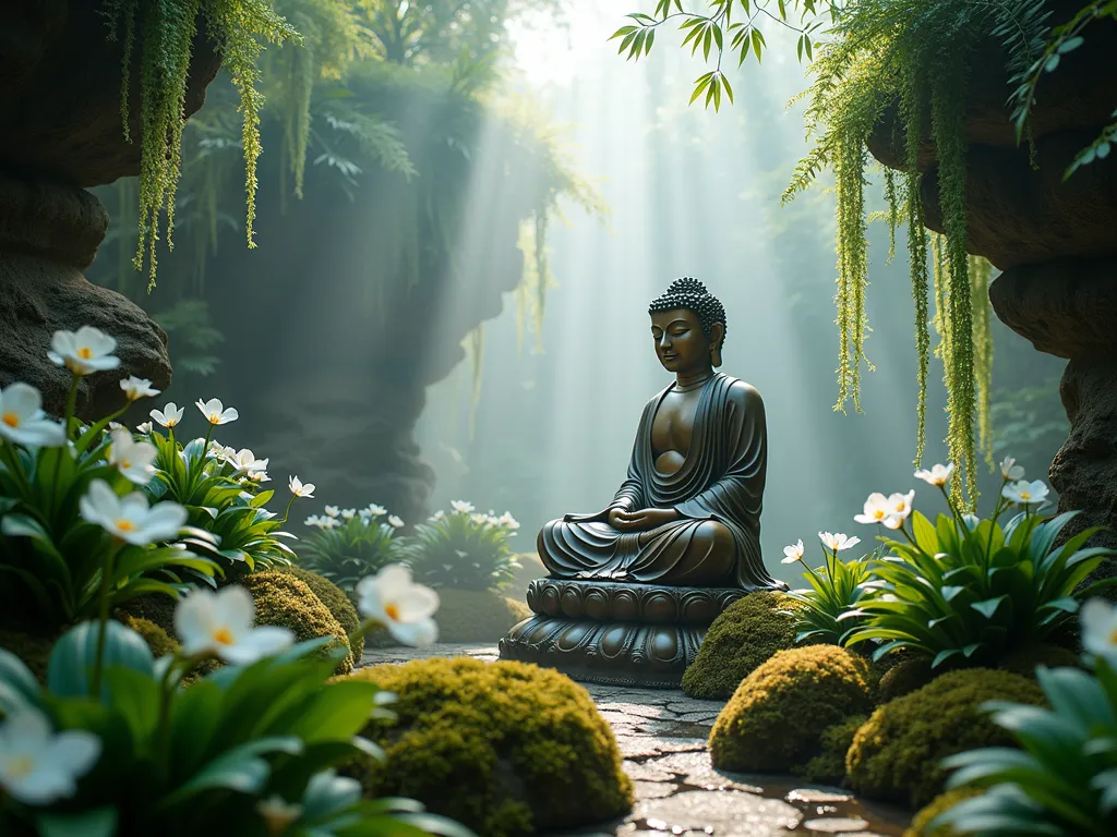
[[[1101,607],[1113,610],[1110,605]],[[1099,644],[1117,647],[1113,635]],[[1110,653],[1110,660],[1113,654]],[[1098,658],[1095,674],[1040,667],[1050,709],[985,704],[1016,748],[986,748],[943,762],[949,787],[987,788],[935,820],[958,834],[1104,837],[1117,829],[1117,674]]]

